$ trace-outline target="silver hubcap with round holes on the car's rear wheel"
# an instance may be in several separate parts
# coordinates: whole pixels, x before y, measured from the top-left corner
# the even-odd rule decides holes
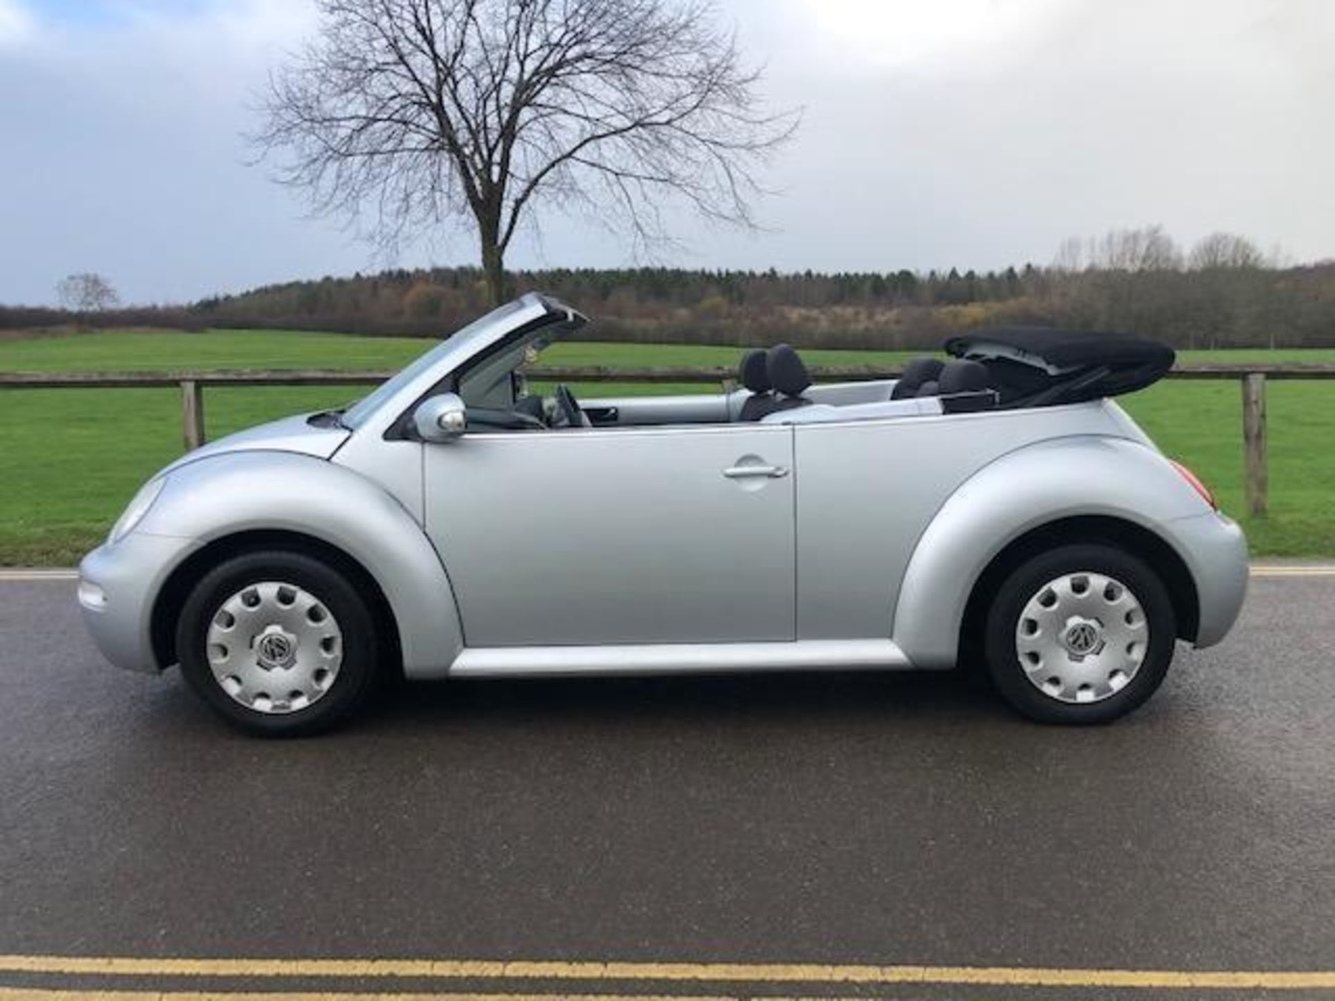
[[[1029,598],[1015,627],[1029,683],[1059,702],[1099,702],[1136,677],[1149,649],[1149,623],[1136,595],[1104,574],[1049,581]]]

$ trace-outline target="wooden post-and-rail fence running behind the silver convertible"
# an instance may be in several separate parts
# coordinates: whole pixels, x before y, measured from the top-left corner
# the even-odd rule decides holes
[[[216,371],[216,372],[0,372],[0,390],[180,387],[186,448],[204,443],[206,386],[374,386],[392,372],[376,371]],[[582,383],[718,383],[736,388],[730,368],[606,368],[545,366],[527,371],[534,382]],[[824,366],[812,370],[817,382],[894,379],[893,368]],[[1335,379],[1335,364],[1193,364],[1173,368],[1169,379],[1232,379],[1242,384],[1243,458],[1247,510],[1266,514],[1270,470],[1266,458],[1266,383],[1270,379]]]

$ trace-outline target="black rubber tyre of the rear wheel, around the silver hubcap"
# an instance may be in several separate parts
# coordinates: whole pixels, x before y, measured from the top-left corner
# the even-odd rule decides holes
[[[1041,691],[1021,666],[1016,629],[1021,613],[1049,582],[1065,574],[1103,574],[1125,586],[1140,603],[1149,637],[1131,681],[1096,702],[1067,702]],[[1172,663],[1177,623],[1172,598],[1159,575],[1139,557],[1103,543],[1061,546],[1016,567],[997,589],[984,635],[988,673],[1016,710],[1041,723],[1107,723],[1148,699]],[[1065,651],[1063,651],[1065,655]]]

